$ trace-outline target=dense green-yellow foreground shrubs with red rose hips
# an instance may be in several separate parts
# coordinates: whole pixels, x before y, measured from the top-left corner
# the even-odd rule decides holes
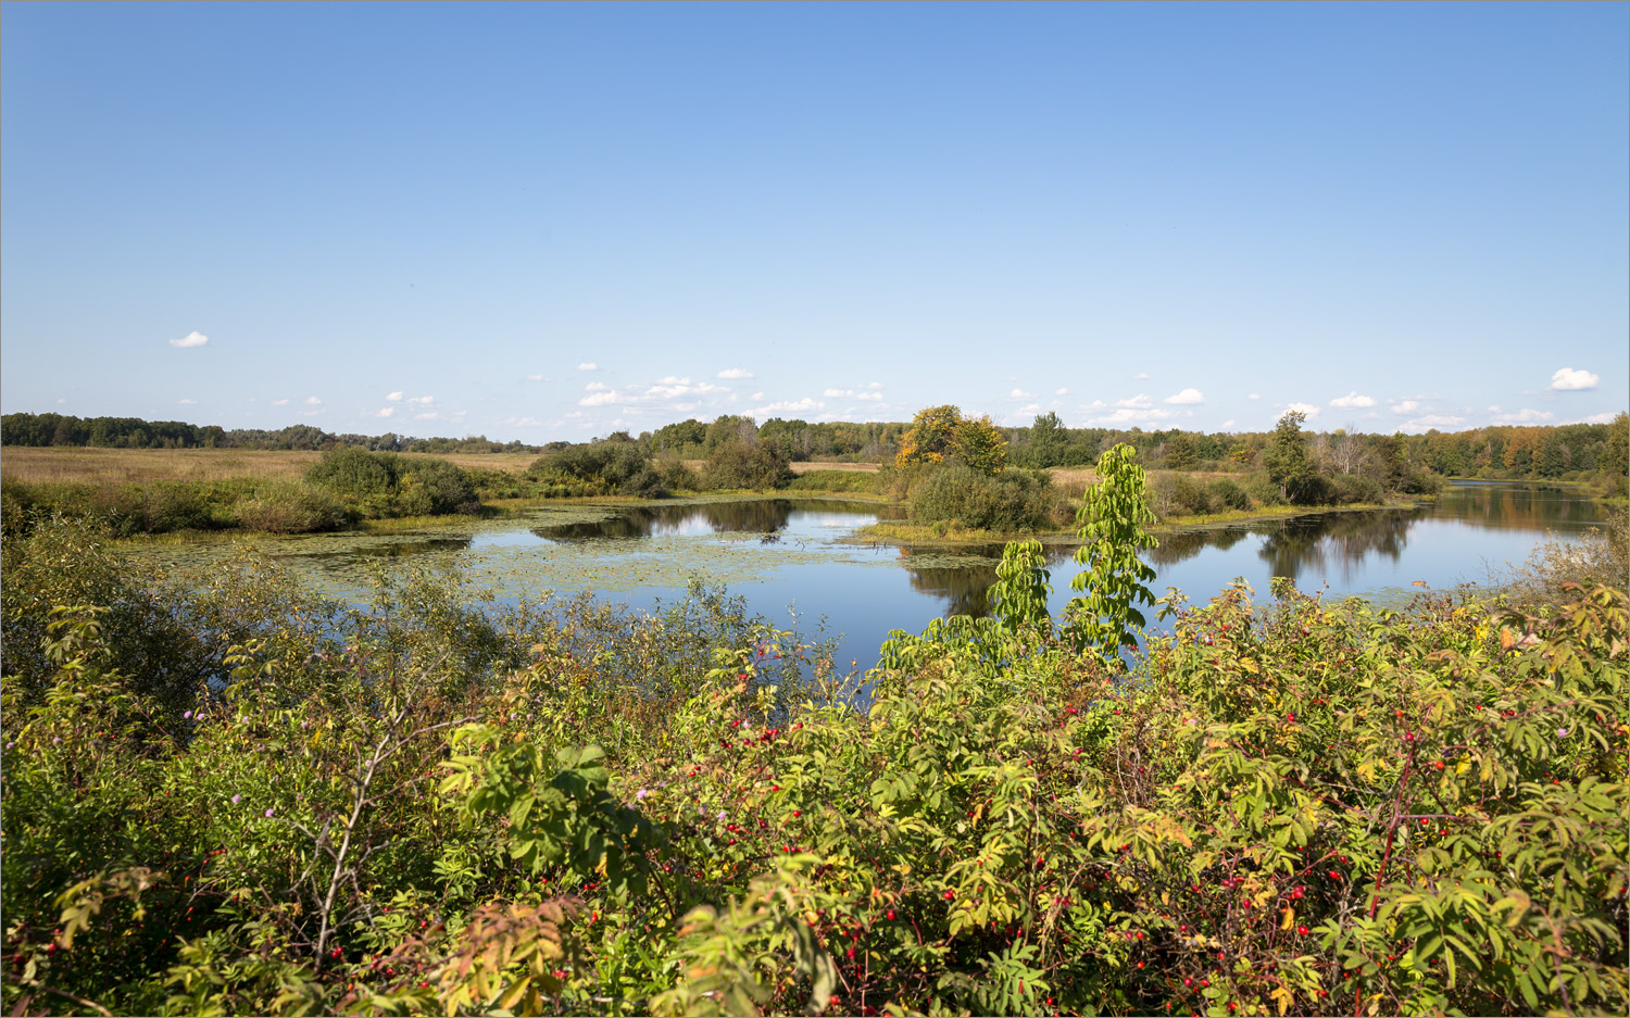
[[[244,554],[147,595],[86,542],[7,547],[10,1011],[1627,1005],[1622,590],[1174,595],[1104,660],[1019,549],[859,710],[707,591],[346,609]],[[166,707],[121,645],[174,625]]]

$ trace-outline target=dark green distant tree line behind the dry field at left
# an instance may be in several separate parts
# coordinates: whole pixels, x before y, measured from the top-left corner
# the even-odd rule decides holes
[[[375,453],[536,453],[522,441],[466,438],[414,438],[411,435],[331,435],[308,423],[275,432],[223,428],[181,420],[140,417],[72,417],[64,414],[7,414],[0,417],[0,445],[77,445],[109,450],[333,450],[355,446]]]

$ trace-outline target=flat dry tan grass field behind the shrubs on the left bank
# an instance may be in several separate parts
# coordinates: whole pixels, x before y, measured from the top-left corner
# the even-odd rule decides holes
[[[78,446],[0,450],[0,472],[26,484],[147,484],[153,480],[227,480],[231,477],[298,477],[321,453],[287,450],[101,450]],[[530,453],[447,453],[463,467],[518,472]]]

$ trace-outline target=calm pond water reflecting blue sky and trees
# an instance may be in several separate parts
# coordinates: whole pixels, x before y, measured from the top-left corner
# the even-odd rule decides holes
[[[844,634],[839,661],[867,668],[890,629],[983,614],[996,580],[999,546],[945,552],[846,541],[859,526],[898,516],[896,507],[813,498],[572,507],[463,529],[305,538],[275,542],[272,552],[346,598],[362,595],[370,562],[448,555],[499,598],[588,590],[644,608],[681,596],[689,577],[701,575],[778,625],[789,627],[795,612],[808,634],[825,619],[828,634]],[[1156,568],[1156,591],[1177,586],[1198,603],[1236,577],[1260,598],[1271,577],[1289,577],[1304,591],[1397,598],[1415,581],[1487,583],[1548,534],[1578,538],[1599,523],[1597,507],[1568,489],[1462,482],[1418,508],[1162,534],[1144,560]],[[1073,596],[1071,552],[1068,544],[1048,547],[1055,612]]]

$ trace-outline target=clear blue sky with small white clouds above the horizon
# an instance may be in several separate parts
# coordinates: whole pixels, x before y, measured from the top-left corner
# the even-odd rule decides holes
[[[1630,404],[1625,3],[0,20],[7,412],[548,441]]]

